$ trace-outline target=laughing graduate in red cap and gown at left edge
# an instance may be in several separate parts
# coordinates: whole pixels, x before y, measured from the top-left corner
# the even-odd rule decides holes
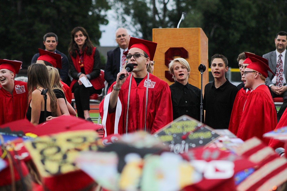
[[[27,83],[15,81],[22,62],[0,59],[0,125],[24,119],[27,110]]]

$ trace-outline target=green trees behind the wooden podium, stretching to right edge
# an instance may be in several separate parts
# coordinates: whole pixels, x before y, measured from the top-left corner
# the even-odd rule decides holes
[[[274,39],[286,31],[286,0],[108,0],[119,26],[152,40],[152,28],[200,27],[208,37],[208,57],[220,53],[237,68],[241,52],[259,56],[275,50]]]

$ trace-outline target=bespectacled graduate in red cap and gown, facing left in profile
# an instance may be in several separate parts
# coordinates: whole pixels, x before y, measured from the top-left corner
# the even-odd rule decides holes
[[[242,76],[245,80],[245,87],[251,88],[251,92],[243,107],[242,117],[239,123],[236,136],[242,140],[251,137],[258,137],[268,144],[270,139],[262,135],[272,131],[277,125],[276,109],[268,87],[265,85],[267,71],[272,72],[265,58],[260,56],[249,56],[249,64]],[[273,72],[272,72],[273,73]]]

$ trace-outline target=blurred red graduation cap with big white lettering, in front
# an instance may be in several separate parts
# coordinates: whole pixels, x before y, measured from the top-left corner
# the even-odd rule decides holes
[[[197,184],[188,186],[184,190],[235,190],[234,176],[238,172],[253,168],[255,164],[245,157],[217,148],[196,147],[190,149],[183,157],[190,161],[203,178]]]

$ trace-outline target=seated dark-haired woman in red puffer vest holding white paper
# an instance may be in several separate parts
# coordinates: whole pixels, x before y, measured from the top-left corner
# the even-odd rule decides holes
[[[100,53],[83,27],[75,27],[72,30],[68,51],[73,78],[70,88],[74,92],[78,117],[92,121],[89,113],[90,95],[101,94],[104,88],[104,82],[100,78]],[[85,87],[80,81],[81,77],[87,78],[92,87]]]

